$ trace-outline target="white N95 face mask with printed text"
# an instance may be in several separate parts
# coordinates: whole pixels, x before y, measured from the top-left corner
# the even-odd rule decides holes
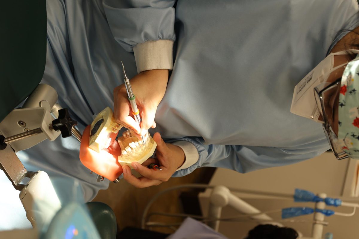
[[[290,112],[319,122],[320,112],[314,98],[314,87],[326,82],[330,73],[347,64],[344,63],[333,68],[334,56],[346,54],[348,54],[348,51],[330,53],[295,86]]]

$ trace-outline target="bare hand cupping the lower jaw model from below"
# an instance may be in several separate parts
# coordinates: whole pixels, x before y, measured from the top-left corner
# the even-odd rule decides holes
[[[142,175],[136,178],[131,173],[129,166],[123,166],[123,178],[137,188],[159,185],[171,178],[177,168],[185,162],[185,153],[177,145],[166,144],[159,133],[153,135],[153,139],[157,143],[156,155],[157,159],[149,158],[142,165],[132,162],[132,167]],[[162,170],[149,169],[148,165],[154,163]]]

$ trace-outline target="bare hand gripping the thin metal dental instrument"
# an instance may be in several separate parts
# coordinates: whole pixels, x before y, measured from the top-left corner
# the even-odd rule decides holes
[[[113,90],[115,119],[117,123],[131,129],[137,137],[144,136],[150,127],[155,128],[156,126],[155,113],[166,91],[168,70],[144,71],[132,78],[130,82],[137,107],[140,110],[141,127],[133,118],[124,84]]]

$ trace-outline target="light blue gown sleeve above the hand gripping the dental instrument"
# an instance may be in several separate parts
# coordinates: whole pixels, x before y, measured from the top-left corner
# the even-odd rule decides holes
[[[176,39],[174,0],[104,0],[107,22],[116,41],[128,52],[150,40]]]

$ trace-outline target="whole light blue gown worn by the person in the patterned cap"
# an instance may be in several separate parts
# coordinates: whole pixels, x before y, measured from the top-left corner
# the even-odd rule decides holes
[[[120,61],[129,78],[136,75],[133,46],[176,38],[174,68],[154,131],[172,141],[191,142],[199,160],[174,176],[201,166],[249,172],[329,149],[321,124],[290,113],[290,104],[294,86],[345,35],[337,33],[359,25],[355,0],[174,4],[47,1],[42,83],[55,88],[80,131],[93,114],[113,107],[113,89],[123,78]],[[91,200],[108,181],[97,183],[78,154],[74,139],[61,138],[18,153],[28,170],[76,178],[85,200]]]

